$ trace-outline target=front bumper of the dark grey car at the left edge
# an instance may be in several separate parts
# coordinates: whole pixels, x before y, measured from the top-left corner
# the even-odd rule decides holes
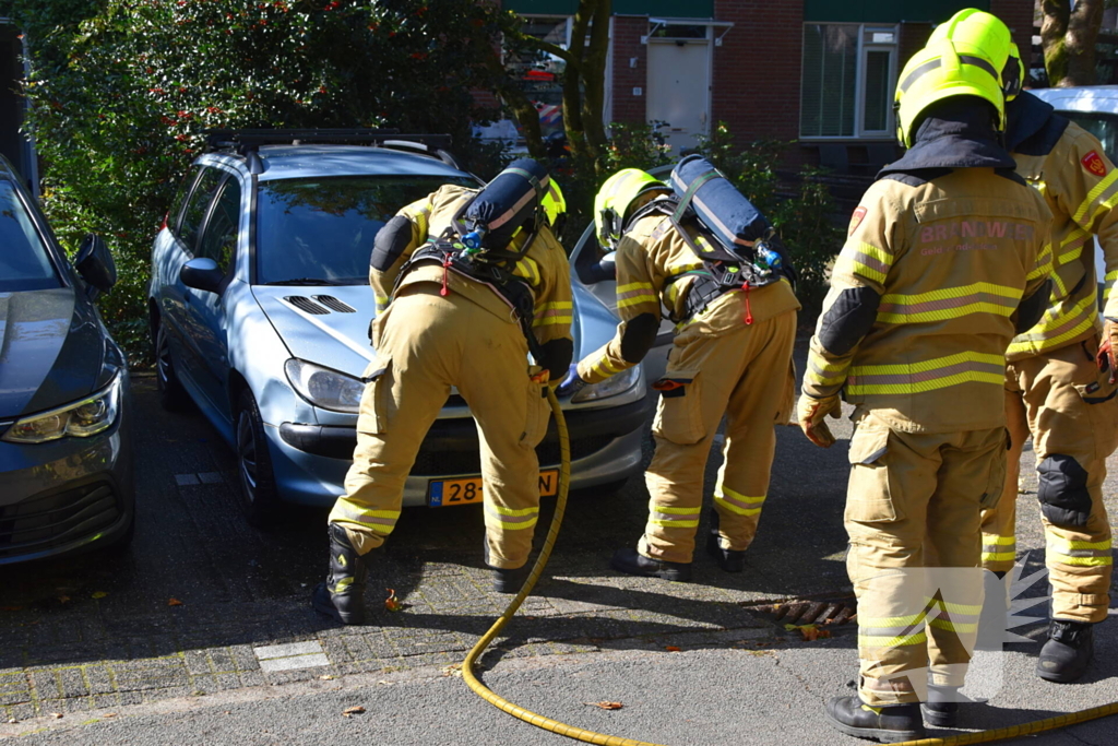
[[[0,442],[0,565],[108,546],[135,512],[127,408],[89,438]]]

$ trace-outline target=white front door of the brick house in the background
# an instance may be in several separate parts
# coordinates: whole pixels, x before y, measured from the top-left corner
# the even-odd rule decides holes
[[[661,130],[672,152],[694,148],[697,134],[710,132],[710,41],[648,40],[648,121]]]

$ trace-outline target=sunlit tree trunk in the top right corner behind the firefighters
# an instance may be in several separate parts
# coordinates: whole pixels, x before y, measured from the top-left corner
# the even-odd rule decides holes
[[[1103,0],[1042,0],[1041,46],[1049,85],[1095,84],[1095,43],[1102,25]]]

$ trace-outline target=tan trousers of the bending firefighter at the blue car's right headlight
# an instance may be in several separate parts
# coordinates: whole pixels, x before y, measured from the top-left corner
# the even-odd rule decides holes
[[[690,563],[703,503],[703,473],[723,414],[724,461],[714,488],[719,541],[745,550],[757,532],[776,450],[774,426],[787,424],[795,397],[792,347],[796,313],[718,336],[697,325],[675,337],[645,473],[648,523],[637,546],[646,557]],[[665,383],[672,388],[666,388]]]

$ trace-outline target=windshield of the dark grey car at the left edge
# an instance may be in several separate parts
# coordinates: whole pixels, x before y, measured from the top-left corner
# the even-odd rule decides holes
[[[47,247],[16,187],[0,181],[0,292],[46,287],[61,287]]]

